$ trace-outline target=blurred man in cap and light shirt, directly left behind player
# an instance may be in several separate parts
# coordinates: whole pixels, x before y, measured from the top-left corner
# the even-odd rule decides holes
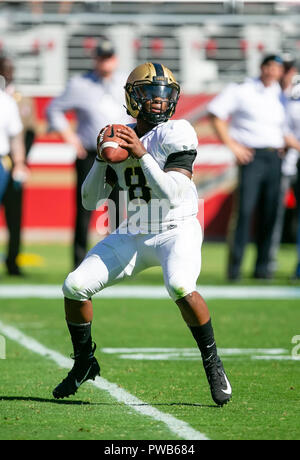
[[[63,140],[74,147],[77,155],[74,267],[82,262],[87,250],[91,212],[82,206],[81,186],[96,158],[99,129],[115,120],[120,120],[121,124],[131,120],[123,107],[125,82],[126,76],[118,71],[113,44],[103,36],[95,50],[94,68],[71,78],[63,94],[53,99],[47,108],[50,128],[58,131]],[[77,116],[76,132],[64,115],[69,110],[74,110]],[[112,193],[110,199],[118,204],[118,189]]]

